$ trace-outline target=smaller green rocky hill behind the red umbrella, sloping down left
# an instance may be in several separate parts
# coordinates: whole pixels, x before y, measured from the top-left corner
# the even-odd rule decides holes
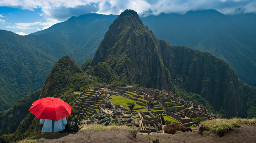
[[[0,112],[0,135],[2,135],[0,142],[11,142],[11,140],[22,139],[41,132],[42,125],[39,119],[28,111],[32,102],[51,96],[61,98],[72,105],[79,96],[79,94],[73,94],[74,91],[87,89],[91,84],[97,85],[98,83],[85,76],[81,68],[75,64],[74,59],[68,55],[63,56],[54,64],[42,89],[22,97],[12,108]],[[72,109],[72,117],[76,115],[73,112],[74,109]]]

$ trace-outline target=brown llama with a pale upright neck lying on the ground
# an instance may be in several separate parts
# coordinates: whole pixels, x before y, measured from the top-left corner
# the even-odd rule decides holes
[[[160,115],[160,119],[161,119],[161,125],[162,125],[162,130],[163,130],[163,133],[166,133],[166,134],[175,134],[176,131],[182,131],[182,132],[192,132],[192,129],[191,128],[187,128],[183,125],[179,125],[179,124],[170,124],[170,125],[166,125],[165,124],[165,121],[163,119],[163,115],[162,114],[159,114]]]

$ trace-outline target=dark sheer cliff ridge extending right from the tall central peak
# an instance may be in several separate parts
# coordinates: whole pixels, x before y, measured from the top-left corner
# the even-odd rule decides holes
[[[184,46],[160,40],[161,56],[171,76],[182,77],[186,92],[201,95],[215,111],[224,109],[225,117],[245,117],[247,108],[243,83],[228,64],[219,58]]]

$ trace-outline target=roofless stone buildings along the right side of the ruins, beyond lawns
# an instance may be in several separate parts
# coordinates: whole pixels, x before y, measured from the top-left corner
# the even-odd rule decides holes
[[[172,92],[141,87],[132,87],[129,91],[143,94],[144,99],[148,101],[149,99],[157,100],[168,116],[171,116],[182,124],[192,122],[192,119],[196,117],[204,120],[212,119],[206,108],[200,107],[196,102],[185,101],[182,97]],[[166,111],[166,107],[171,108],[171,112]]]

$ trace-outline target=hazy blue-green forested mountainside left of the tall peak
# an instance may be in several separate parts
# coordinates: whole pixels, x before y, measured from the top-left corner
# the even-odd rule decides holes
[[[43,86],[53,64],[70,55],[82,64],[93,57],[117,15],[85,14],[20,36],[0,30],[0,111]]]

